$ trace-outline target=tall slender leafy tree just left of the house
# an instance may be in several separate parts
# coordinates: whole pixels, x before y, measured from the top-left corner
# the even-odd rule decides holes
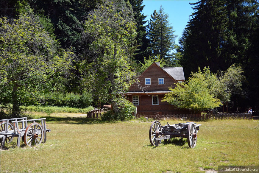
[[[135,22],[129,2],[103,1],[85,21],[83,40],[91,61],[81,63],[83,82],[91,82],[95,98],[119,111],[121,95],[135,74],[130,70],[128,45],[135,38]]]

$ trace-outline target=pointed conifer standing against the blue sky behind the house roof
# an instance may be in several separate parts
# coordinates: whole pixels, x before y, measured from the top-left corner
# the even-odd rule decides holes
[[[154,10],[148,22],[148,38],[151,55],[160,55],[165,59],[166,66],[171,66],[172,51],[176,48],[176,35],[173,27],[169,26],[168,14],[164,13],[162,5],[158,12]]]

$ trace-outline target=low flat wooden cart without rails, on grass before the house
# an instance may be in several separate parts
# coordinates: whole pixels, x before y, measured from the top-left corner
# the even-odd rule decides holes
[[[166,124],[162,126],[159,121],[153,121],[149,129],[149,140],[151,145],[158,146],[161,140],[170,141],[171,138],[187,138],[190,148],[194,148],[197,143],[199,126],[194,122]]]

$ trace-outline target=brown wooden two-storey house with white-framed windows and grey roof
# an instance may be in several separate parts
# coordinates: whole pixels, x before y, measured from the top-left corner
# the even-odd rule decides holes
[[[152,63],[126,93],[128,100],[137,107],[139,115],[189,114],[188,110],[176,109],[168,102],[161,102],[168,88],[176,87],[185,80],[182,67],[161,68],[159,62]]]

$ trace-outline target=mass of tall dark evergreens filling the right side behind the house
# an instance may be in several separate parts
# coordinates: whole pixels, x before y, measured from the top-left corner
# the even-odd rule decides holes
[[[182,54],[185,77],[198,66],[210,66],[217,73],[239,65],[247,79],[243,85],[246,94],[233,94],[233,108],[248,106],[248,102],[258,105],[258,1],[199,1],[191,5],[195,5],[195,13],[177,50]]]

